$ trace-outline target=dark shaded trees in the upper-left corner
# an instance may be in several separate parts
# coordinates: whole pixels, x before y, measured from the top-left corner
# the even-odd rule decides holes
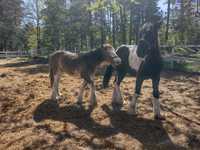
[[[22,19],[21,0],[0,1],[0,49],[17,48],[17,34]]]

